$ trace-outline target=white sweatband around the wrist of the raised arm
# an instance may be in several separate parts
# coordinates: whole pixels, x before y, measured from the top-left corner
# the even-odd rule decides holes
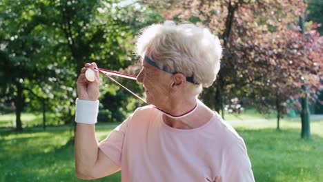
[[[75,122],[84,124],[97,123],[99,101],[77,99],[75,104]]]

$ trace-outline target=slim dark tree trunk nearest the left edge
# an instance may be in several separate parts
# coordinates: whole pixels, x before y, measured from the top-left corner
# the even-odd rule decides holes
[[[16,130],[22,131],[21,124],[21,112],[23,111],[23,104],[25,103],[25,98],[23,97],[23,88],[20,84],[17,84],[17,97],[14,100],[16,105]]]

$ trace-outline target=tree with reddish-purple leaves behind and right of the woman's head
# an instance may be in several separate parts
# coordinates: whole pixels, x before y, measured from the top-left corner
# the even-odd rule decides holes
[[[320,35],[313,29],[305,39],[300,34],[298,16],[306,7],[302,2],[192,0],[161,6],[166,19],[206,25],[222,39],[224,57],[217,81],[202,94],[217,111],[238,97],[245,105],[276,108],[279,123],[281,106],[302,96],[304,80],[310,94],[320,85],[322,59],[315,45],[320,43],[313,41]],[[307,52],[313,56],[304,57]]]

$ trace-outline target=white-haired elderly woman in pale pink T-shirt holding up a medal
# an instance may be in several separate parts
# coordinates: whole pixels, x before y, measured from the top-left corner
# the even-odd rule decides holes
[[[222,48],[207,28],[173,21],[149,26],[137,41],[137,81],[146,105],[101,141],[95,136],[99,73],[87,63],[77,80],[76,174],[122,181],[254,181],[246,145],[217,112],[197,99],[219,71]],[[88,81],[87,69],[95,70]]]

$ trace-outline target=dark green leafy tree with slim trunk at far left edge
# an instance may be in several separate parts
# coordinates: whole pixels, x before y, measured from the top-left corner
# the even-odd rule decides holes
[[[43,1],[1,1],[0,6],[0,57],[1,57],[1,100],[14,101],[16,129],[22,130],[21,112],[26,106],[28,94],[39,88],[46,69],[35,59],[43,49],[45,40],[39,34],[44,19],[41,17]],[[39,88],[41,89],[41,88]]]

